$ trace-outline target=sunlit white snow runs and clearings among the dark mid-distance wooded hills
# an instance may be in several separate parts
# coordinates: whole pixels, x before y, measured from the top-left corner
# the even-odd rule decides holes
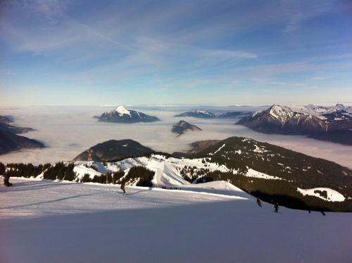
[[[223,145],[222,147],[225,147]],[[220,149],[222,148],[220,147]],[[220,150],[218,149],[218,151]],[[257,149],[258,151],[263,151],[263,149]],[[218,152],[215,151],[215,152]],[[94,166],[95,169],[90,168],[91,166]],[[156,188],[177,188],[177,189],[198,189],[198,188],[208,188],[208,189],[213,189],[214,187],[211,185],[211,183],[206,184],[191,184],[188,181],[184,180],[181,175],[182,169],[187,166],[187,167],[192,167],[195,171],[199,171],[201,169],[209,169],[210,171],[222,171],[222,172],[230,172],[232,173],[237,173],[236,170],[231,170],[228,169],[224,165],[219,165],[216,163],[212,162],[206,162],[204,159],[177,159],[177,158],[166,158],[165,156],[159,155],[159,154],[152,154],[151,157],[137,157],[137,158],[128,158],[124,159],[122,161],[116,161],[113,163],[106,163],[105,166],[97,161],[77,161],[75,162],[75,168],[74,172],[76,175],[75,181],[80,181],[84,174],[89,174],[90,178],[94,178],[94,176],[101,176],[102,173],[114,173],[116,171],[124,171],[125,175],[130,171],[130,169],[134,166],[144,166],[147,169],[151,170],[154,172],[154,177],[152,180],[153,185]],[[97,171],[96,171],[97,170]],[[249,178],[263,178],[263,179],[268,179],[268,180],[282,180],[282,178],[276,177],[276,176],[270,176],[265,173],[260,173],[258,171],[255,171],[253,169],[248,169],[246,174],[244,176],[247,176]],[[38,176],[38,178],[42,178],[41,176]],[[133,185],[135,186],[137,181],[132,181],[131,183],[127,183],[127,185]],[[217,184],[218,181],[213,182],[214,184]],[[225,186],[227,184],[227,186]],[[204,187],[206,185],[206,187]],[[239,189],[236,188],[234,185],[231,183],[223,182],[222,183],[224,188],[231,188],[232,190],[234,189]],[[229,186],[230,185],[230,186]],[[214,190],[214,189],[213,189]],[[328,201],[344,201],[345,198],[343,195],[341,195],[339,192],[329,189],[329,188],[316,188],[313,190],[303,190],[300,188],[297,188],[298,192],[301,192],[302,195],[312,195],[311,193],[313,192],[313,195],[318,196],[322,199],[328,200]],[[326,197],[325,195],[319,195],[314,191],[321,191],[324,192],[326,191]],[[210,192],[212,192],[210,190]],[[242,191],[241,191],[242,192]]]

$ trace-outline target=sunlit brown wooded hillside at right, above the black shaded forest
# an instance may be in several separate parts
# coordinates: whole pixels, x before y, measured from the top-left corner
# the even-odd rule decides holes
[[[352,197],[352,171],[346,167],[249,138],[230,137],[189,157],[208,157],[239,173],[253,169],[296,187],[327,187]]]

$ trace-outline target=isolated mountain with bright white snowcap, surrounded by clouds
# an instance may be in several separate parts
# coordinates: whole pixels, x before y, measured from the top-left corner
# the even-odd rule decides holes
[[[127,110],[124,106],[118,106],[113,111],[106,111],[101,116],[96,116],[96,118],[99,121],[110,123],[151,123],[153,121],[160,121],[155,116],[149,116],[139,111]]]

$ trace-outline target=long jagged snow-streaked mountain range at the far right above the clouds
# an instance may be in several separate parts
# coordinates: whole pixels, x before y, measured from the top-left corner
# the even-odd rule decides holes
[[[318,140],[352,145],[352,107],[280,106],[241,118],[243,125],[260,133],[308,135]]]

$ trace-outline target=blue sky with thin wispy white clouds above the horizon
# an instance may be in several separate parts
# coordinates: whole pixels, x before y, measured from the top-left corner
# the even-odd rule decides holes
[[[0,104],[352,104],[352,1],[1,1]]]

